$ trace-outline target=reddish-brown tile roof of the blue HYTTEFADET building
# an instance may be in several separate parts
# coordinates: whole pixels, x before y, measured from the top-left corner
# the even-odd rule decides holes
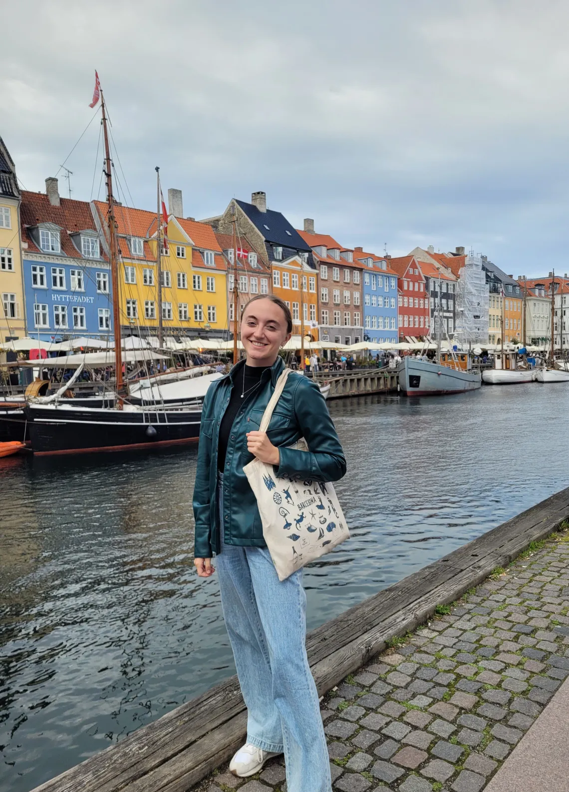
[[[28,244],[30,253],[44,251],[36,246],[31,234],[28,234],[29,227],[38,223],[54,223],[59,226],[62,229],[60,234],[62,253],[70,258],[82,258],[82,254],[71,241],[70,234],[87,229],[97,230],[87,201],[61,198],[59,206],[52,206],[44,192],[27,190],[21,193],[20,222],[22,242]],[[108,261],[104,256],[102,245],[101,255],[105,261]]]

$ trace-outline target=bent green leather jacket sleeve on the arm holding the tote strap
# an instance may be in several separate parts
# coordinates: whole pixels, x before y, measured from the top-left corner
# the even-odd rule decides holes
[[[328,407],[316,383],[299,378],[293,396],[294,417],[309,451],[279,447],[278,476],[337,482],[346,473],[346,459]]]

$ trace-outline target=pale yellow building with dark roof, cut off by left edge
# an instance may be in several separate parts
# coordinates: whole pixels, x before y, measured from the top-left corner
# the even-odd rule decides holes
[[[20,190],[0,138],[0,341],[25,337],[24,273],[20,249]]]

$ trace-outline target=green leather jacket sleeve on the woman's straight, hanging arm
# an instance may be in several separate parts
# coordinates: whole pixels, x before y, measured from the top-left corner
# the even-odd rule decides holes
[[[214,421],[211,417],[211,404],[214,401],[214,387],[207,390],[203,399],[202,420],[199,425],[198,463],[194,483],[194,557],[211,558],[211,437]]]

